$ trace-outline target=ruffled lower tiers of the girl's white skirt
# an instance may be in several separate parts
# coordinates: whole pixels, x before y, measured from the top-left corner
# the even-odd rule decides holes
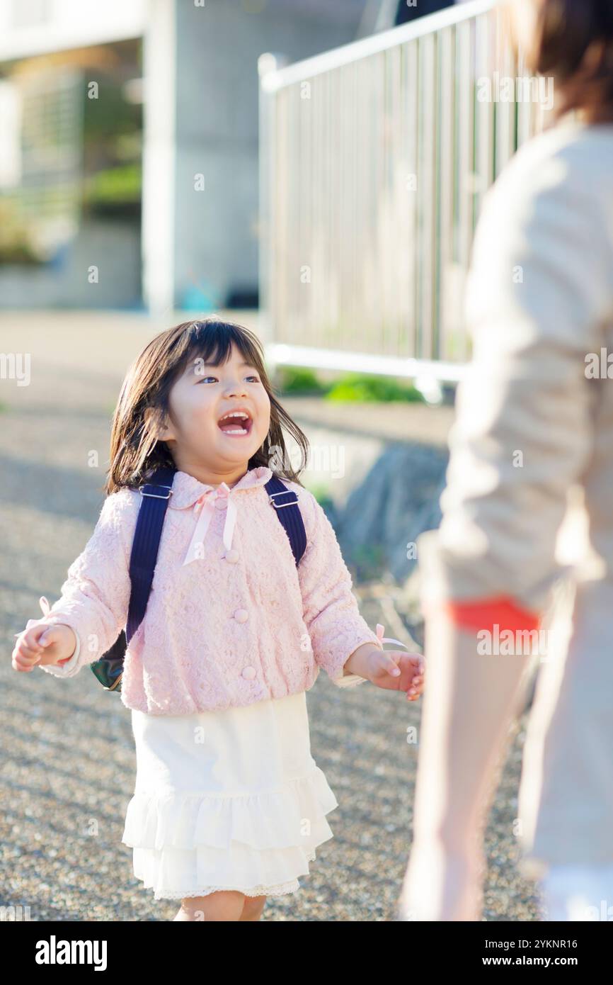
[[[295,892],[315,848],[334,837],[337,798],[319,766],[275,791],[135,793],[122,843],[134,875],[155,899],[234,889],[248,896]]]

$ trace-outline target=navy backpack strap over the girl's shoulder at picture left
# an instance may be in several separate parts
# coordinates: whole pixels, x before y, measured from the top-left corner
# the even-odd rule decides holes
[[[152,590],[153,570],[157,559],[161,528],[168,500],[172,495],[172,481],[176,469],[159,468],[151,481],[139,488],[143,496],[132,542],[130,555],[130,580],[132,593],[126,624],[126,641],[129,643],[143,622]]]

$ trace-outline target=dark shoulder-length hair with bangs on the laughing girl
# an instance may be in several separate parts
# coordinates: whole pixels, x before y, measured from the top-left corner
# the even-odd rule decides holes
[[[279,479],[302,485],[298,476],[306,466],[308,440],[276,400],[260,340],[242,325],[210,315],[202,321],[185,321],[160,332],[130,366],[113,415],[110,468],[104,493],[110,495],[123,487],[135,488],[158,466],[175,468],[166,442],[155,437],[153,423],[161,422],[168,414],[168,394],[188,363],[202,357],[206,362],[221,364],[230,358],[232,343],[258,370],[271,401],[271,427],[247,468],[264,465]],[[153,408],[149,427],[148,408]],[[302,461],[296,472],[289,462],[281,424],[301,449]],[[275,468],[271,462],[275,462]]]

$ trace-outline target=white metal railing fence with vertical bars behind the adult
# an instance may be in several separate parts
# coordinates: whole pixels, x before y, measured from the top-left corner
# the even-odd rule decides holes
[[[550,108],[502,11],[475,0],[259,71],[269,359],[458,380],[483,196]]]

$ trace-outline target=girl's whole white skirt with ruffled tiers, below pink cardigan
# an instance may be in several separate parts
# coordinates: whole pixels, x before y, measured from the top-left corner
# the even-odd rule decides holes
[[[311,755],[306,693],[193,715],[132,711],[122,842],[155,899],[300,888],[337,799]]]

